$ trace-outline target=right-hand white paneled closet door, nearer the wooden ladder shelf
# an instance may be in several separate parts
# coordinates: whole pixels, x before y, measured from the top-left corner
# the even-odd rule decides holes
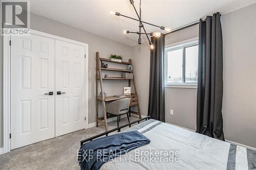
[[[55,135],[85,128],[84,46],[55,41]],[[59,91],[59,92],[58,92]]]

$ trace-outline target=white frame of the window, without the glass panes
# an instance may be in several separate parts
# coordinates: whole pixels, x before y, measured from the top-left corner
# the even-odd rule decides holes
[[[185,41],[180,41],[177,43],[165,45],[164,49],[164,86],[170,88],[197,88],[197,83],[189,83],[185,82],[185,74],[186,74],[186,53],[185,50],[187,47],[198,45],[198,37],[191,38]],[[167,82],[167,53],[174,50],[183,49],[183,57],[182,57],[182,83],[168,83]]]

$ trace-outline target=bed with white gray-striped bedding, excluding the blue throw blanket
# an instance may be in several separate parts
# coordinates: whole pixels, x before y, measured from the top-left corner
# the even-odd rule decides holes
[[[120,128],[123,127],[125,126]],[[158,120],[148,119],[123,132],[127,131],[139,131],[150,139],[151,143],[127,152],[125,156],[120,156],[115,161],[104,163],[100,167],[101,170],[256,169],[256,151],[162,123]],[[81,144],[84,142],[85,140],[81,141]],[[164,157],[164,155],[156,155],[156,151],[158,153],[167,151],[169,155],[166,156],[172,159],[168,161],[154,160],[156,157]],[[148,152],[153,153],[151,155],[153,159],[150,155],[147,155]],[[142,158],[139,158],[138,155]],[[145,159],[146,157],[147,159]]]

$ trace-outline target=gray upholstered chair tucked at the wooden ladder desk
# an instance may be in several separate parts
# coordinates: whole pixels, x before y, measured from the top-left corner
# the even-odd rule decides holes
[[[130,98],[120,99],[114,101],[106,106],[106,113],[117,115],[117,127],[119,127],[119,120],[122,114],[126,114],[128,118],[128,122],[130,123],[129,119],[129,107],[130,107]]]

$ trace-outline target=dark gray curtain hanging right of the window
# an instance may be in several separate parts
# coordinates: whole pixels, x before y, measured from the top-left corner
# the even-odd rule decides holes
[[[223,59],[220,13],[199,23],[197,132],[224,140]]]

